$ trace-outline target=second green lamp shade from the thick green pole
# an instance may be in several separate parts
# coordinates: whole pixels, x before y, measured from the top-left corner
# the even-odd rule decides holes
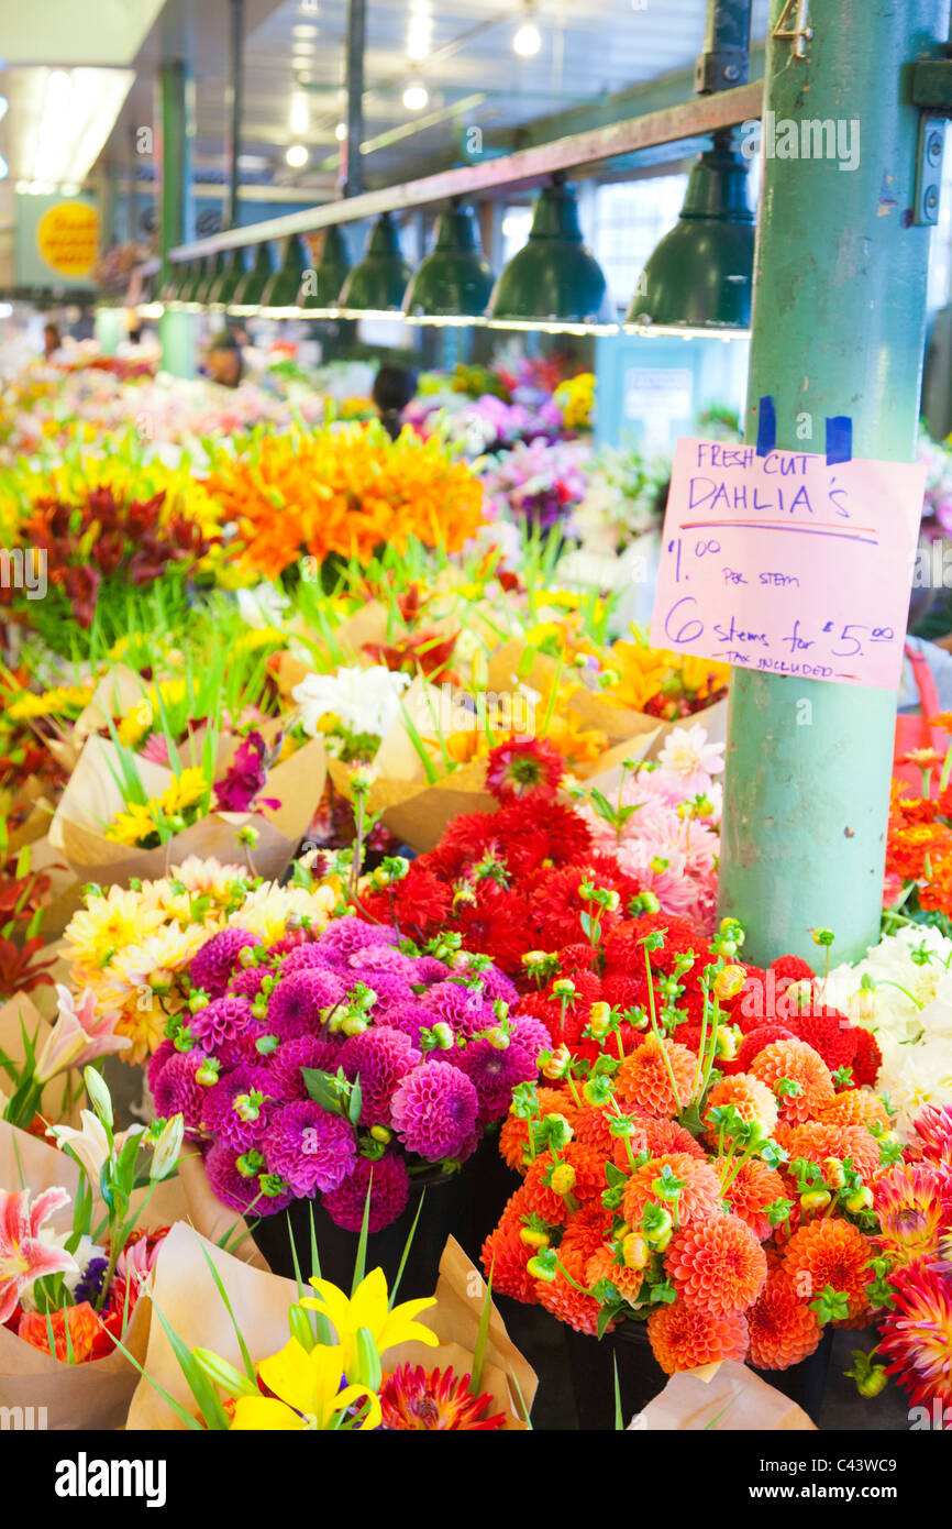
[[[578,203],[561,182],[539,193],[529,242],[500,275],[489,313],[497,327],[616,327],[605,275],[585,249]]]

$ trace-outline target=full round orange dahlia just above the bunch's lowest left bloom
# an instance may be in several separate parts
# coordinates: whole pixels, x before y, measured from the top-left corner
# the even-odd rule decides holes
[[[678,1232],[665,1268],[683,1298],[712,1316],[746,1310],[767,1278],[764,1249],[738,1216],[712,1217]]]

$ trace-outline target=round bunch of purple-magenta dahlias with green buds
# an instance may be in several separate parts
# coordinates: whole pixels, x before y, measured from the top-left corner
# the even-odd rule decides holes
[[[384,862],[397,876],[406,862]],[[243,1216],[322,1196],[338,1226],[403,1209],[411,1174],[458,1168],[536,1075],[539,1026],[460,942],[425,948],[355,916],[277,942],[231,924],[191,962],[188,1008],[148,1081],[206,1145],[209,1182]]]

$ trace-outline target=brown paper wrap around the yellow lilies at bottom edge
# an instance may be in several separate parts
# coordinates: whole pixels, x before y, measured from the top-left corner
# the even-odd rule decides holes
[[[257,1364],[277,1353],[287,1342],[287,1309],[298,1300],[295,1283],[240,1263],[189,1226],[174,1226],[162,1245],[153,1271],[156,1307],[188,1349],[211,1349],[212,1353],[241,1367],[235,1329],[215,1287],[206,1255],[225,1284],[252,1361]],[[469,1295],[469,1290],[474,1294]],[[420,1321],[437,1333],[440,1346],[431,1349],[410,1342],[388,1349],[384,1355],[384,1370],[391,1372],[399,1364],[408,1362],[423,1364],[428,1370],[445,1368],[449,1364],[460,1376],[469,1373],[483,1294],[481,1275],[469,1263],[460,1245],[449,1238],[440,1260],[437,1304],[420,1316]],[[127,1430],[182,1430],[185,1423],[150,1384],[150,1381],[157,1382],[179,1405],[197,1416],[188,1382],[159,1321],[153,1321],[150,1327],[144,1368],[150,1379],[141,1379],[134,1390]],[[481,1388],[492,1396],[492,1411],[506,1413],[507,1430],[526,1427],[521,1420],[518,1394],[521,1391],[526,1407],[532,1407],[536,1378],[510,1342],[495,1307],[491,1313]]]

